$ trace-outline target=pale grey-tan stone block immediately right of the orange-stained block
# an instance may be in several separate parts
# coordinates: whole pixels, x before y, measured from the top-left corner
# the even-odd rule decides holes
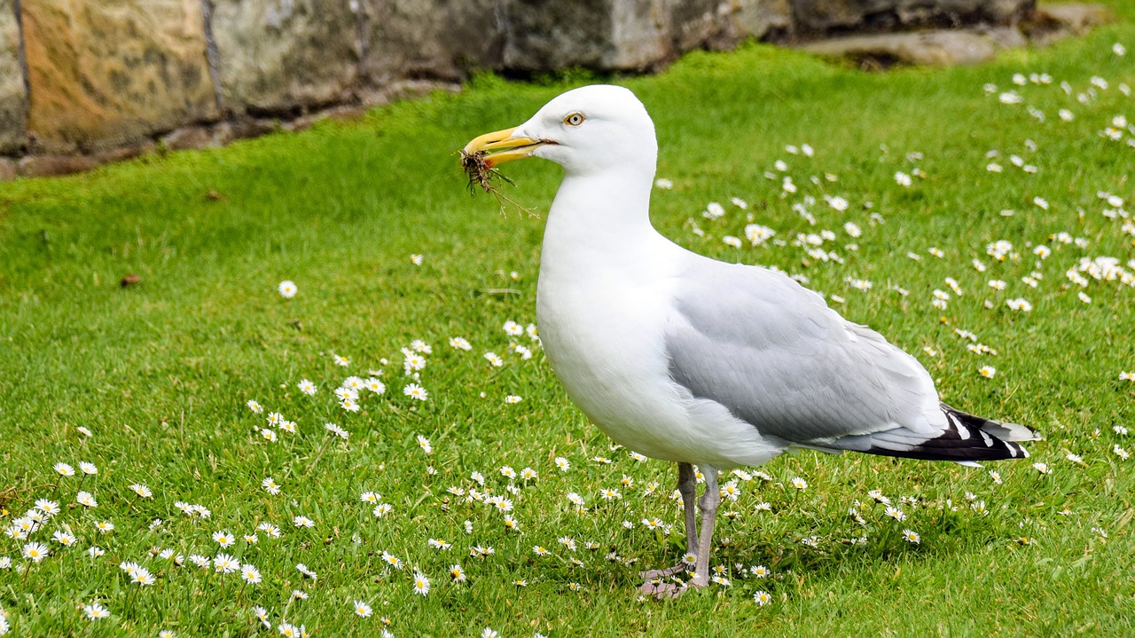
[[[221,103],[291,114],[352,95],[361,54],[350,0],[211,0]]]

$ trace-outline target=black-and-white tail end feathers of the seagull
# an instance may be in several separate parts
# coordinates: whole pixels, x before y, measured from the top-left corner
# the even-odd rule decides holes
[[[1025,426],[983,419],[944,403],[941,406],[947,427],[934,435],[894,428],[838,438],[825,447],[926,461],[973,462],[1025,459],[1028,452],[1019,442],[1040,439]]]

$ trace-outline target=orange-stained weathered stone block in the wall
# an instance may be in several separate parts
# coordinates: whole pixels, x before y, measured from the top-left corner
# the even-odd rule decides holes
[[[217,117],[200,0],[23,0],[28,131],[48,152]]]

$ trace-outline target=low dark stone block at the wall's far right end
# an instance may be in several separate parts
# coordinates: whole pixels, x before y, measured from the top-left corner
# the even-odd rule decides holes
[[[1028,15],[1035,0],[791,0],[804,35],[884,32],[918,26],[1004,25]]]

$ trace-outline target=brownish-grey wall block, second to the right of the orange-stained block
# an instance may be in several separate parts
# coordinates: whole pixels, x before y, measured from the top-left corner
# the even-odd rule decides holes
[[[507,28],[497,0],[360,0],[368,90],[400,79],[457,82],[498,68]]]

